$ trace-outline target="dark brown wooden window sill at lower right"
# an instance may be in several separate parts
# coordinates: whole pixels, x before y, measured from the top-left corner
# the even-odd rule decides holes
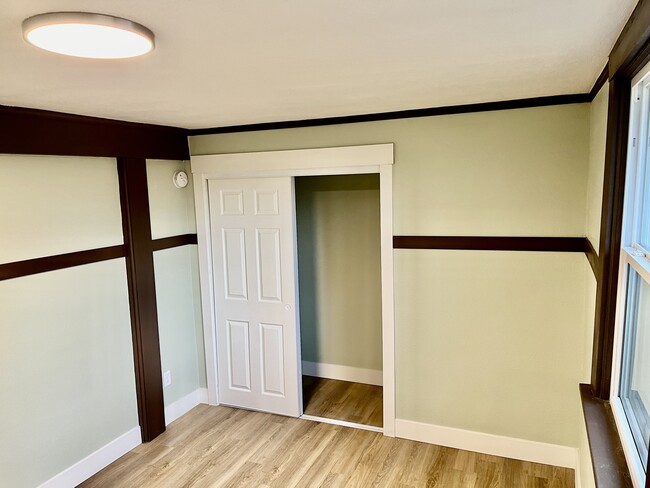
[[[623,446],[608,402],[594,396],[591,385],[580,385],[582,411],[598,488],[632,487]]]

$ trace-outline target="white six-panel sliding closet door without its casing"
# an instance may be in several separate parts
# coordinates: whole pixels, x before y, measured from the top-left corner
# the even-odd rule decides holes
[[[219,401],[301,413],[293,179],[208,181]]]

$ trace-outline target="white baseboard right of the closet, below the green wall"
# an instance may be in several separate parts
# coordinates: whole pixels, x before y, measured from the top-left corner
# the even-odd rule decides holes
[[[395,435],[403,439],[563,468],[576,469],[578,459],[578,452],[574,447],[484,434],[410,420],[395,419]]]

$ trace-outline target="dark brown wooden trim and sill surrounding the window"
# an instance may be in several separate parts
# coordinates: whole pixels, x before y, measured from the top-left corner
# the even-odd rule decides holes
[[[631,82],[650,60],[650,0],[640,0],[609,56],[609,106],[600,225],[591,385],[581,385],[589,446],[599,488],[631,486],[610,397],[619,253],[623,223]],[[590,259],[591,263],[591,259]],[[592,265],[593,266],[593,265]],[[646,477],[646,488],[650,477]]]

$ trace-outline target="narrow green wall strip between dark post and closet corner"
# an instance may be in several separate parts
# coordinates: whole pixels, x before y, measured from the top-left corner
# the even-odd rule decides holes
[[[176,188],[175,171],[190,177]],[[194,193],[187,161],[147,161],[147,184],[154,239],[196,232]],[[172,384],[163,389],[165,406],[198,388],[206,387],[203,322],[196,246],[154,253],[156,303],[162,370],[170,371]]]

